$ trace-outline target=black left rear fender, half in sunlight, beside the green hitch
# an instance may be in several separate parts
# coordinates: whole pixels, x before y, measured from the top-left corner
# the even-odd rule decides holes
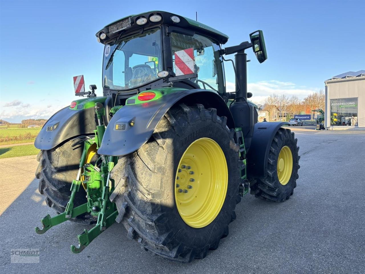
[[[34,146],[49,150],[69,138],[93,134],[96,129],[95,108],[72,110],[69,106],[57,111],[35,138]]]

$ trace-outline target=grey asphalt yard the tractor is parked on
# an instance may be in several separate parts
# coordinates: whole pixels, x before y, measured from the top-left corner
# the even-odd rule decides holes
[[[70,245],[91,227],[65,222],[37,235],[34,227],[54,212],[38,193],[30,164],[9,172],[2,159],[0,189],[8,192],[0,201],[1,273],[365,273],[365,131],[290,128],[301,155],[294,195],[284,203],[246,195],[219,248],[189,264],[143,251],[121,224],[77,255]],[[39,249],[39,263],[11,263],[17,248]]]

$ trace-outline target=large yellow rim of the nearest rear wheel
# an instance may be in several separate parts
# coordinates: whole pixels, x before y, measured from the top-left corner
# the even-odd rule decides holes
[[[210,138],[193,141],[175,177],[175,201],[184,222],[194,228],[210,224],[223,206],[227,186],[227,161],[220,146]]]

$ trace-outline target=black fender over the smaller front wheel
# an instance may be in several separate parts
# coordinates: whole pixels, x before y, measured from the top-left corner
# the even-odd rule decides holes
[[[251,146],[247,152],[247,176],[265,178],[268,171],[270,146],[276,132],[287,122],[255,123]]]

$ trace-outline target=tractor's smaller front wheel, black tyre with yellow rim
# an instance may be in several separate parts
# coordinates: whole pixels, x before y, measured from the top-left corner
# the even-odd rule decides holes
[[[280,128],[271,143],[266,178],[250,180],[250,193],[256,198],[284,202],[293,195],[300,168],[297,139],[290,129]]]

